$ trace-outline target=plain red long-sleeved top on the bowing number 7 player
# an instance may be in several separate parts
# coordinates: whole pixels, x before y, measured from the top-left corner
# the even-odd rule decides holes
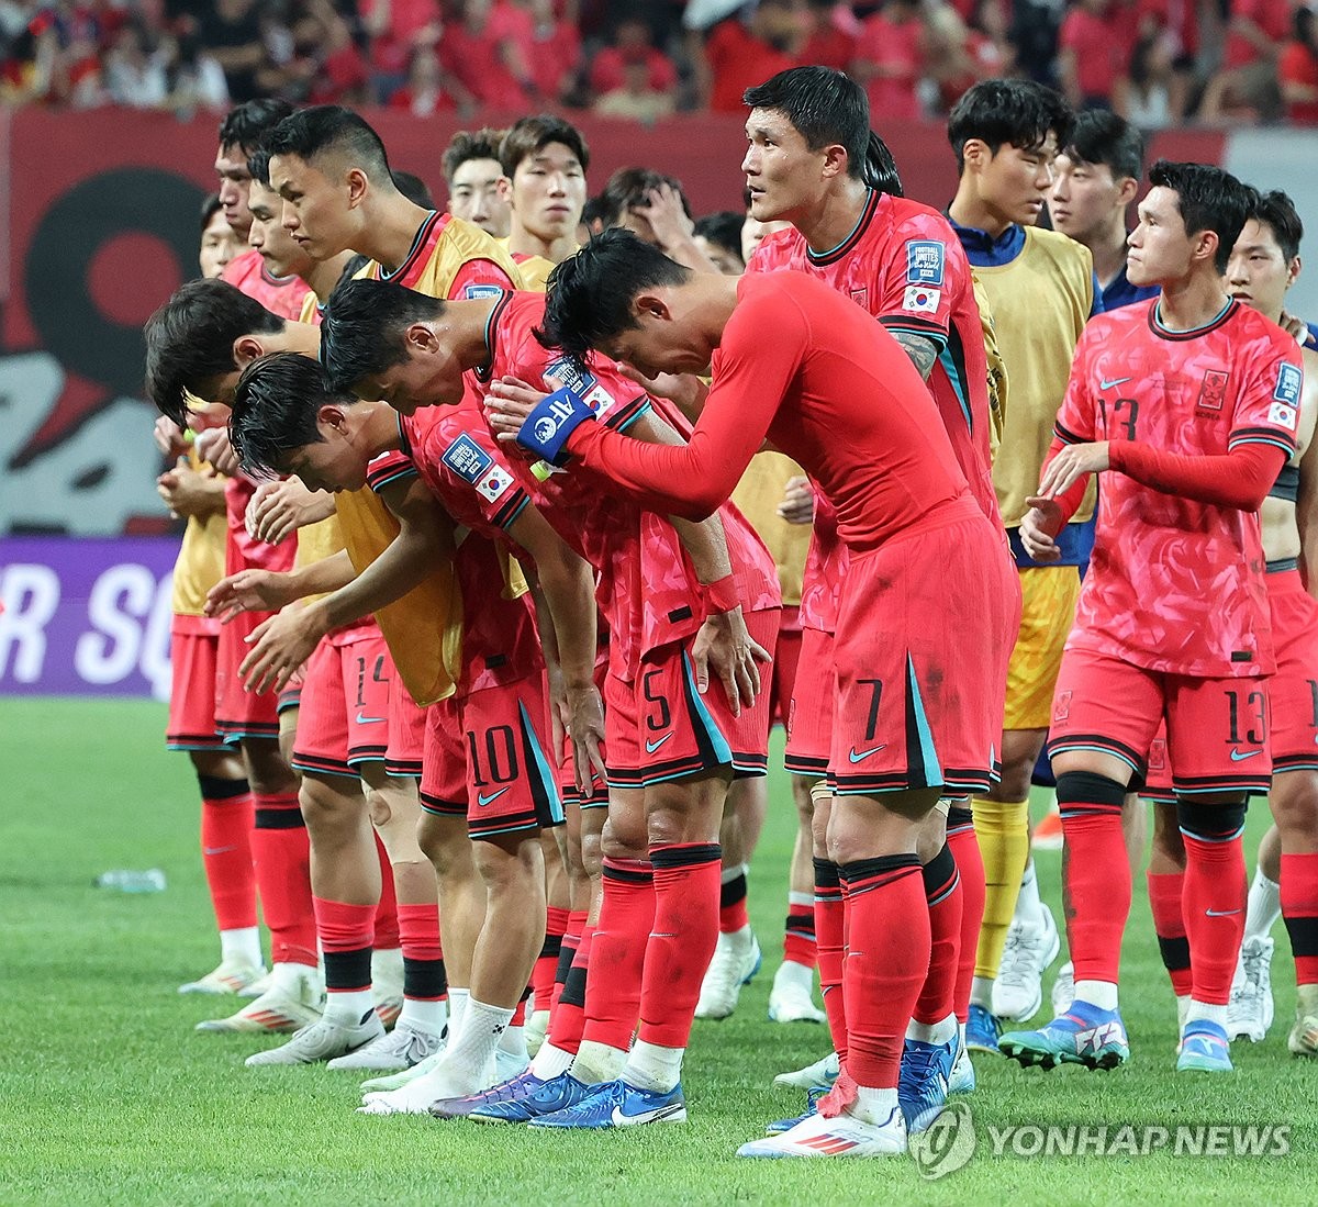
[[[900,344],[801,273],[737,283],[687,447],[641,444],[598,423],[580,424],[567,447],[647,506],[701,517],[731,494],[766,437],[818,484],[857,553],[970,502],[933,399]]]

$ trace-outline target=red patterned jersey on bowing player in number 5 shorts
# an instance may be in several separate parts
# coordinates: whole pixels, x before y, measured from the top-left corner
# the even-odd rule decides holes
[[[569,386],[605,427],[626,431],[656,407],[683,432],[685,420],[656,405],[634,381],[600,357],[588,372],[535,339],[544,322],[544,294],[513,293],[494,307],[486,327],[490,360],[472,374],[476,390],[513,376],[552,393]],[[540,477],[522,457],[509,466],[544,513],[546,520],[596,569],[596,598],[609,625],[612,667],[631,681],[641,656],[693,634],[710,607],[691,557],[667,515],[646,511],[630,499],[601,506],[598,490],[575,474]],[[728,555],[746,613],[778,607],[782,596],[774,560],[763,542],[730,503],[720,509]]]

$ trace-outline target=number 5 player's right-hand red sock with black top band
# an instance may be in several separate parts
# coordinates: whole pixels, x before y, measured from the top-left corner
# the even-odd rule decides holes
[[[647,1044],[685,1048],[691,1038],[700,984],[718,942],[721,858],[717,842],[650,849],[655,920],[646,947],[638,1032]],[[745,916],[745,899],[741,908]]]

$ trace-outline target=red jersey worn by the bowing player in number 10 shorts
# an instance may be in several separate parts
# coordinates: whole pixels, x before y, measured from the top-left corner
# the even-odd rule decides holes
[[[503,470],[473,470],[473,465],[489,459],[480,451],[474,435],[467,434],[477,426],[473,416],[467,412],[464,428],[460,415],[456,407],[427,407],[418,419],[399,418],[403,451],[376,457],[366,469],[366,485],[377,493],[419,473],[438,505],[456,524],[471,530],[459,540],[453,559],[463,597],[457,698],[526,679],[544,665],[531,597],[507,598],[503,559],[493,543],[503,539],[503,528],[526,506],[526,495]],[[439,430],[445,419],[448,427]],[[478,426],[484,431],[484,424]],[[457,449],[449,452],[451,444],[457,444]]]

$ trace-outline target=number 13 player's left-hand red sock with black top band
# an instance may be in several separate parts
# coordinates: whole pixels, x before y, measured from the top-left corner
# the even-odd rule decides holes
[[[1066,938],[1077,980],[1116,984],[1120,972],[1122,932],[1131,912],[1131,864],[1122,837],[1124,797],[1124,787],[1107,776],[1086,771],[1057,776]]]

